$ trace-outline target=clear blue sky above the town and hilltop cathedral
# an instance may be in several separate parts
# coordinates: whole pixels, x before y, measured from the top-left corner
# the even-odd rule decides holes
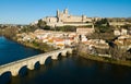
[[[29,24],[66,8],[72,15],[131,17],[131,0],[0,0],[0,24]]]

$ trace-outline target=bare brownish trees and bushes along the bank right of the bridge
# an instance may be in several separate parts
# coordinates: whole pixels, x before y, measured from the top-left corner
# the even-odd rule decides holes
[[[87,49],[87,46],[85,46],[83,44],[79,44],[76,46],[76,51],[75,52],[76,52],[78,56],[83,57],[85,59],[91,59],[91,60],[96,60],[96,61],[102,61],[102,62],[109,62],[109,63],[131,67],[131,61],[129,60],[129,59],[131,59],[131,52],[124,52],[123,50],[118,49],[118,48],[111,48],[109,50],[106,50],[106,49],[103,50],[103,49],[96,49],[95,48],[95,50],[96,50],[95,52],[102,52],[102,53],[111,52],[112,57],[107,58],[107,57],[98,57],[97,55],[91,55],[90,50]]]

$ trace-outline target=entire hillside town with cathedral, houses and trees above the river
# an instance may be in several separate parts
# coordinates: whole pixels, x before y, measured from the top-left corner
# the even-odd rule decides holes
[[[47,44],[53,49],[71,47],[91,56],[131,60],[130,19],[75,16],[66,9],[58,10],[57,16],[47,16],[29,25],[0,26],[2,35],[14,37],[19,43]]]

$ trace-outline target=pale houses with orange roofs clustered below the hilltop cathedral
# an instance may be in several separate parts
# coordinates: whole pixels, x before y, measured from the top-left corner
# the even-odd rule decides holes
[[[102,48],[109,49],[109,45],[104,39],[91,39],[87,38],[87,35],[91,35],[95,32],[94,28],[76,28],[76,32],[52,32],[36,29],[31,33],[17,34],[17,41],[41,41],[46,43],[49,46],[53,46],[56,49],[63,49],[66,47],[74,47],[76,44],[82,43],[88,46],[88,49]],[[115,39],[114,44],[121,48],[129,50],[131,48],[131,35],[127,29],[114,31],[115,36],[118,36]]]

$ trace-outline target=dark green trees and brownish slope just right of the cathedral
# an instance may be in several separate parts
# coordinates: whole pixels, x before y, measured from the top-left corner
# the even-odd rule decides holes
[[[111,40],[115,38],[114,28],[109,25],[107,19],[102,19],[100,21],[94,22],[95,33],[87,36],[93,39],[105,39]]]

